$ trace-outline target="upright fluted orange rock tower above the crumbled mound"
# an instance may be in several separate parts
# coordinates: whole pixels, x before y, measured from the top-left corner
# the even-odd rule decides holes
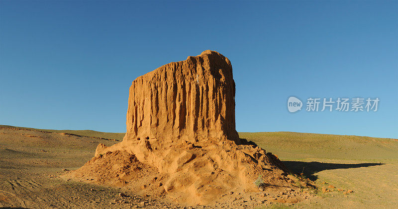
[[[218,52],[164,65],[130,87],[125,139],[230,139],[235,130],[231,62]]]

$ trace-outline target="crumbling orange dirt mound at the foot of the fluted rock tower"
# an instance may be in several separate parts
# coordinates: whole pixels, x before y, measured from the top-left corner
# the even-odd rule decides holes
[[[237,145],[227,139],[196,143],[176,140],[168,144],[137,139],[110,147],[100,144],[92,160],[67,175],[129,188],[140,195],[167,195],[173,202],[190,205],[232,202],[259,193],[299,191],[299,187],[307,186],[289,175],[272,153],[254,144]],[[282,201],[299,200],[297,194]]]

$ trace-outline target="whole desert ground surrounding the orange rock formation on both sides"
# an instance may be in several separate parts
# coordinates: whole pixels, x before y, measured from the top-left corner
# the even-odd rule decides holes
[[[0,126],[0,208],[185,208],[167,198],[62,177],[89,161],[99,143],[109,146],[123,136]],[[194,208],[398,208],[397,139],[292,132],[239,137],[277,155],[317,188],[296,204],[245,197]]]

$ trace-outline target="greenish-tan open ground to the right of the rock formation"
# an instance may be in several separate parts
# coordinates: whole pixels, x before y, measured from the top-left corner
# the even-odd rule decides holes
[[[398,208],[397,139],[293,132],[239,136],[272,150],[292,171],[304,169],[304,175],[315,180],[316,198],[294,208]],[[323,193],[329,185],[353,192]]]

